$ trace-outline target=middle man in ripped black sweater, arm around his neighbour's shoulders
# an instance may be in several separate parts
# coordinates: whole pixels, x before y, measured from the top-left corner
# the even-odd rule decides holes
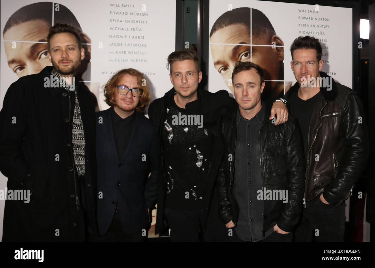
[[[172,241],[198,241],[201,229],[205,241],[228,241],[214,186],[223,153],[221,119],[234,99],[225,90],[198,89],[202,72],[194,51],[172,52],[168,67],[174,87],[148,109],[159,165],[155,233],[168,222]],[[274,108],[276,124],[285,122],[285,105]]]

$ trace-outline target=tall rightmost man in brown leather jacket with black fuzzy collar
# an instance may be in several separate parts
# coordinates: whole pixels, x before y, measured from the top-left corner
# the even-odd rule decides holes
[[[365,169],[368,136],[359,95],[324,72],[318,39],[291,45],[297,83],[284,98],[297,118],[305,147],[304,209],[295,241],[343,241],[345,199]]]

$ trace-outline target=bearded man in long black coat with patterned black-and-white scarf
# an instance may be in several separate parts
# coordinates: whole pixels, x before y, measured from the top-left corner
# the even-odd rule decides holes
[[[0,170],[29,202],[5,202],[3,241],[85,241],[96,233],[95,110],[75,78],[84,58],[74,27],[47,37],[52,66],[10,85],[0,112]],[[8,192],[9,192],[8,190]]]

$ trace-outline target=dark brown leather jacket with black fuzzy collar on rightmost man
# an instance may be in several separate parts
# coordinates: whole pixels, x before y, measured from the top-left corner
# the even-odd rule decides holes
[[[320,88],[310,121],[304,203],[323,193],[336,206],[351,195],[365,169],[369,142],[359,95],[324,72],[320,76],[332,79],[332,88]],[[292,116],[298,90],[296,83],[284,96]]]

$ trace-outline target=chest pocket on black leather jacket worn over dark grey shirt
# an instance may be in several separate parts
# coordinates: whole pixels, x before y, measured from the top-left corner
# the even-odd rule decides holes
[[[285,146],[276,146],[266,148],[269,156],[269,171],[271,175],[284,175],[288,171],[287,166],[287,148]]]

